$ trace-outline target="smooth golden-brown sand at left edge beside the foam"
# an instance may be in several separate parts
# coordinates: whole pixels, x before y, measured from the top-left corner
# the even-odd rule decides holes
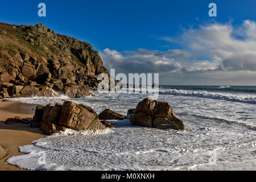
[[[0,146],[5,148],[7,155],[0,159],[0,171],[4,170],[24,170],[5,163],[5,160],[14,155],[22,155],[18,147],[31,144],[32,141],[43,138],[46,135],[38,128],[31,128],[26,124],[6,125],[7,118],[19,116],[32,119],[36,105],[23,104],[18,101],[2,102],[0,100]]]

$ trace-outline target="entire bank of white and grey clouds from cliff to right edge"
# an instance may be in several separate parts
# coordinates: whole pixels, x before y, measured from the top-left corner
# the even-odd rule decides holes
[[[256,23],[241,26],[213,23],[191,28],[179,38],[181,49],[153,51],[139,48],[100,52],[104,65],[116,73],[159,73],[160,84],[255,84]]]

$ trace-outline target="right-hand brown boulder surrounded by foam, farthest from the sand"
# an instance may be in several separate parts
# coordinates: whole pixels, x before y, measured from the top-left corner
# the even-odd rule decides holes
[[[129,111],[130,113],[132,111]],[[128,114],[127,114],[128,115]],[[134,114],[128,115],[131,124],[157,129],[184,130],[183,121],[178,119],[168,102],[145,98],[139,102]]]

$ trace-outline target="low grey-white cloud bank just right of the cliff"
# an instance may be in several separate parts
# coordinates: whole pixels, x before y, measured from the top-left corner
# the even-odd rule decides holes
[[[159,51],[138,49],[136,51],[118,52],[109,48],[100,52],[106,68],[115,68],[121,73],[159,73],[175,72],[181,68],[180,63],[170,55],[158,55]]]

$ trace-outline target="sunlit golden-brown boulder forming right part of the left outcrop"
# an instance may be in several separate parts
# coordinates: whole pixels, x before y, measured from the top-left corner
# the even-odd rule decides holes
[[[98,114],[91,107],[71,101],[64,102],[58,124],[78,131],[105,129]]]

